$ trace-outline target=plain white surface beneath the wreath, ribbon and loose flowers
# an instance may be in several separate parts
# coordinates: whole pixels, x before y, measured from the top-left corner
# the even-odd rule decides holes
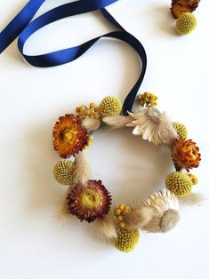
[[[67,1],[46,1],[38,14]],[[1,1],[0,29],[25,4]],[[169,0],[120,0],[109,12],[144,44],[148,70],[140,92],[159,97],[159,108],[187,125],[202,153],[197,191],[208,198],[208,1],[195,12],[197,29],[177,36]],[[112,27],[99,12],[60,20],[29,38],[28,54],[83,43]],[[64,187],[52,178],[59,156],[52,127],[80,104],[109,94],[124,100],[140,73],[139,59],[121,42],[101,40],[82,58],[56,68],[34,68],[13,43],[0,56],[0,278],[208,278],[209,205],[181,208],[173,231],[141,233],[129,254],[94,239],[92,226],[56,219]],[[113,204],[129,203],[164,187],[170,154],[131,130],[102,131],[88,151],[92,178],[102,179]]]

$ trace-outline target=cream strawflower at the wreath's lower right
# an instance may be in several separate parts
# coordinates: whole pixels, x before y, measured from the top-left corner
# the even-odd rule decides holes
[[[178,199],[168,190],[152,194],[143,206],[153,209],[152,219],[142,227],[150,233],[165,233],[175,227],[180,219]]]

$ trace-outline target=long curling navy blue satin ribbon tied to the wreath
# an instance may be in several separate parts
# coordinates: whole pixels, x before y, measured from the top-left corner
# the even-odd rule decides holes
[[[20,53],[29,64],[36,67],[53,67],[62,65],[73,60],[88,51],[93,44],[100,40],[102,37],[116,38],[129,44],[139,54],[141,58],[141,75],[133,86],[131,92],[125,99],[123,105],[123,114],[127,115],[127,111],[131,111],[135,96],[139,91],[142,80],[145,75],[147,67],[147,57],[143,45],[133,35],[125,31],[117,20],[105,9],[109,4],[113,4],[118,0],[80,0],[73,3],[62,4],[49,12],[45,12],[43,15],[38,17],[36,20],[32,20],[40,6],[45,0],[30,0],[28,4],[18,13],[18,15],[7,25],[6,28],[0,33],[0,53],[12,44],[12,41],[19,36],[18,48]],[[68,49],[44,53],[41,55],[27,55],[24,54],[24,44],[26,44],[28,37],[32,36],[38,29],[44,28],[44,26],[68,16],[81,14],[84,12],[92,12],[100,10],[102,15],[113,24],[118,31],[109,32],[108,34],[98,36],[92,40],[85,42],[84,44],[77,45]],[[30,22],[30,20],[32,20]]]

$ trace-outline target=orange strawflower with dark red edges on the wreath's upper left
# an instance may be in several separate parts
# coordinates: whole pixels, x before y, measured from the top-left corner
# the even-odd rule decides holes
[[[53,128],[53,147],[60,157],[76,155],[87,144],[87,131],[74,115],[60,116]]]

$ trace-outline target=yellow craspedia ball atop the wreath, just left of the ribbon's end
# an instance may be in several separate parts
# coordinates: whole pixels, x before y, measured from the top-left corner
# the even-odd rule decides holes
[[[100,102],[99,111],[102,117],[117,116],[121,113],[122,104],[117,97],[107,96]]]

